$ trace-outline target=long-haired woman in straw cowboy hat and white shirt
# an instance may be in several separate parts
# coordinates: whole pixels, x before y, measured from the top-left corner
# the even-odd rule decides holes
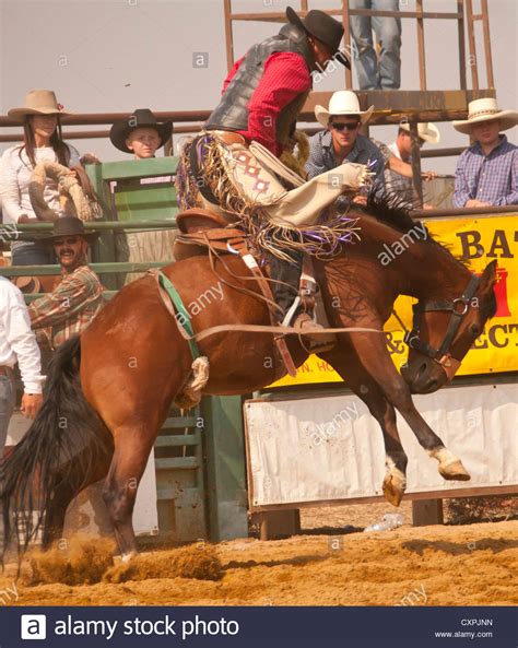
[[[4,224],[15,226],[17,223],[37,221],[28,196],[28,184],[36,164],[50,161],[72,167],[80,163],[78,151],[63,142],[62,115],[70,113],[63,110],[50,90],[32,90],[22,107],[9,110],[9,117],[23,123],[23,144],[7,149],[0,162]],[[44,198],[51,209],[62,213],[58,188],[51,180],[47,180]],[[15,240],[11,251],[14,266],[52,262],[51,250],[42,241]]]

